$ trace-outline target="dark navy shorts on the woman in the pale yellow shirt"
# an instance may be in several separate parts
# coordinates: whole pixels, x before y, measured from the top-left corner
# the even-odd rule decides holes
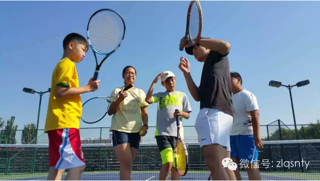
[[[130,147],[139,149],[141,136],[139,132],[121,132],[112,130],[112,143],[113,146],[118,144],[130,143]]]

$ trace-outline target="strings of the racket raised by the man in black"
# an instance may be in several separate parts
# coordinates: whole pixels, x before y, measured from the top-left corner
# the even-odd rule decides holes
[[[193,2],[190,12],[189,36],[190,39],[197,37],[199,32],[199,9],[197,3]]]

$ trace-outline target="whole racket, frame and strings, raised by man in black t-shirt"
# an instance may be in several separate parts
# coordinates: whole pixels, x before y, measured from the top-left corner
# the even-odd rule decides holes
[[[191,44],[197,44],[201,38],[202,32],[202,10],[198,0],[192,0],[189,4],[187,13],[187,26],[186,34],[184,36],[184,44],[188,41]],[[183,46],[180,46],[180,51],[183,50]]]

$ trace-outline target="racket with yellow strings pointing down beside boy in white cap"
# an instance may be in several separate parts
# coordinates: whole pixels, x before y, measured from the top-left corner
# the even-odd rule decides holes
[[[178,109],[175,110],[176,112]],[[179,116],[176,116],[177,121],[177,136],[178,140],[174,147],[174,162],[176,164],[177,172],[180,176],[184,176],[187,174],[189,164],[188,164],[188,150],[187,146],[185,145],[183,139],[180,135],[180,120]]]

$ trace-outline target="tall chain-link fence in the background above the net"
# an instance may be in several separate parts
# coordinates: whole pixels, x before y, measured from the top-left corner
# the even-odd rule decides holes
[[[297,124],[298,139],[320,139],[320,122],[314,124]],[[194,126],[185,125],[184,140],[185,142],[198,142],[198,135]],[[155,143],[154,138],[156,131],[155,126],[150,126],[147,135],[143,136],[141,142]],[[82,143],[111,143],[112,137],[110,127],[84,127],[80,128]],[[8,135],[0,135],[2,144],[34,144],[35,130],[29,130],[24,133],[17,130],[14,138]],[[9,135],[10,136],[10,135]],[[280,119],[275,120],[267,125],[260,125],[260,137],[262,140],[293,140],[296,139],[294,125],[286,125]],[[31,141],[30,141],[31,140]],[[38,130],[38,144],[47,144],[48,135],[44,133],[44,129]]]

